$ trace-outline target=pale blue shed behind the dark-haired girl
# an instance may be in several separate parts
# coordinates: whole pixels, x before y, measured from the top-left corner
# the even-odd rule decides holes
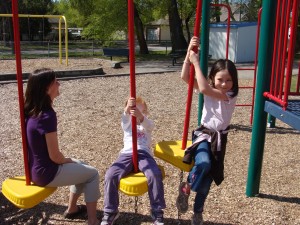
[[[230,24],[228,58],[234,63],[254,62],[257,22]],[[226,58],[227,23],[210,24],[209,54],[213,59]]]

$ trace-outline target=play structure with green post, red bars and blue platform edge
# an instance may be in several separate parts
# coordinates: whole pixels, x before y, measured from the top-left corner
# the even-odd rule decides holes
[[[267,113],[300,130],[299,82],[291,92],[299,0],[264,0],[246,195],[259,194]],[[291,23],[290,23],[291,19]],[[288,41],[290,32],[290,40]],[[270,57],[272,56],[272,57]]]

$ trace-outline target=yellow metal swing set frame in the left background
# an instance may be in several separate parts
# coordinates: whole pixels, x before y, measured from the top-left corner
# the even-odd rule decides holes
[[[0,17],[13,17],[13,14],[0,14]],[[62,15],[29,15],[29,14],[18,14],[18,18],[56,18],[59,20],[58,23],[58,54],[59,54],[59,63],[62,64],[62,26],[61,26],[61,21],[63,20],[65,23],[65,64],[66,66],[68,65],[68,26],[67,26],[67,20],[64,16]],[[14,29],[15,30],[15,29]],[[17,30],[18,35],[19,35],[19,30]]]

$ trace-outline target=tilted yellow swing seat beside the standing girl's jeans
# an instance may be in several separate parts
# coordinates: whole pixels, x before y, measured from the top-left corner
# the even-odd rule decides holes
[[[187,146],[190,146],[192,141],[187,141]],[[161,141],[156,144],[154,155],[179,169],[189,172],[194,163],[186,164],[182,162],[184,150],[181,149],[182,141]]]

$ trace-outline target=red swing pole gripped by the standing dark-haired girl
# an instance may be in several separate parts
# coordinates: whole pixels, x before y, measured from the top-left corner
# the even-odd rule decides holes
[[[196,9],[196,22],[195,22],[195,26],[194,26],[194,36],[196,36],[196,37],[199,37],[201,9],[202,9],[202,0],[198,0],[197,1],[197,9]],[[194,47],[193,51],[198,53],[198,48]],[[182,145],[181,145],[182,150],[185,150],[186,143],[187,143],[187,135],[188,135],[189,124],[190,124],[191,105],[192,105],[192,99],[193,99],[194,79],[195,79],[195,68],[194,68],[194,65],[192,64],[190,67],[188,97],[187,97],[186,108],[185,108],[185,119],[184,119],[184,128],[183,128]]]

